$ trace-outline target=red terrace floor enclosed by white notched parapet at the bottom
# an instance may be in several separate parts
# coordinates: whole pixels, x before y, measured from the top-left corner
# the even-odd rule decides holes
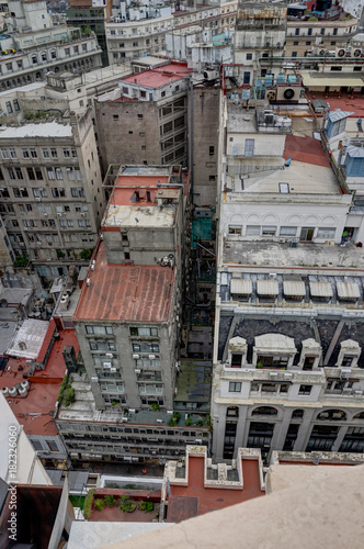
[[[181,508],[182,515],[195,516],[203,515],[209,511],[223,509],[229,505],[235,505],[237,503],[246,502],[252,500],[253,497],[259,497],[264,495],[261,491],[260,475],[259,475],[259,461],[242,459],[242,479],[243,479],[243,490],[228,490],[228,489],[214,489],[204,488],[204,457],[190,457],[189,458],[189,485],[187,486],[177,486],[171,484],[171,495],[169,502],[173,505],[173,498],[177,505],[174,506],[177,515],[174,515],[173,508],[172,513],[169,513],[167,522],[180,522],[184,519],[184,516],[179,516],[179,508]],[[192,507],[192,514],[189,514],[189,509],[181,506],[181,496],[191,498],[190,506]],[[197,502],[194,500],[197,498]],[[169,505],[170,505],[169,503]],[[197,503],[197,506],[196,506]],[[187,502],[189,506],[189,502]],[[196,511],[196,513],[195,513]]]

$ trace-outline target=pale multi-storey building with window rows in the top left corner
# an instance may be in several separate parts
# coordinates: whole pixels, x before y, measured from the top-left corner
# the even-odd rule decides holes
[[[0,89],[44,80],[49,70],[84,72],[101,66],[92,32],[53,26],[43,0],[11,0],[1,36]]]

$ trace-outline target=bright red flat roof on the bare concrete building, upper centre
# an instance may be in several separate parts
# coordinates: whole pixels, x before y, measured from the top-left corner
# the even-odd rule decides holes
[[[136,83],[147,88],[160,88],[168,83],[175,82],[192,74],[186,63],[169,63],[162,67],[156,67],[143,72],[137,72],[122,79],[122,82]]]

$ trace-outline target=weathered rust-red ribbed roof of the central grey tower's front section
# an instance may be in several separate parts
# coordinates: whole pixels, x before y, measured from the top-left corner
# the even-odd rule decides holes
[[[83,284],[73,321],[167,322],[175,269],[149,265],[107,264],[100,244],[90,285]]]

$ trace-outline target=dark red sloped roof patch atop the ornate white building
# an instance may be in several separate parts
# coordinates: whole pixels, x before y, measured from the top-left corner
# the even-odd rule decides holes
[[[326,157],[321,143],[314,137],[287,135],[283,158],[287,160],[289,156],[292,160],[298,163],[330,168],[329,160]]]

